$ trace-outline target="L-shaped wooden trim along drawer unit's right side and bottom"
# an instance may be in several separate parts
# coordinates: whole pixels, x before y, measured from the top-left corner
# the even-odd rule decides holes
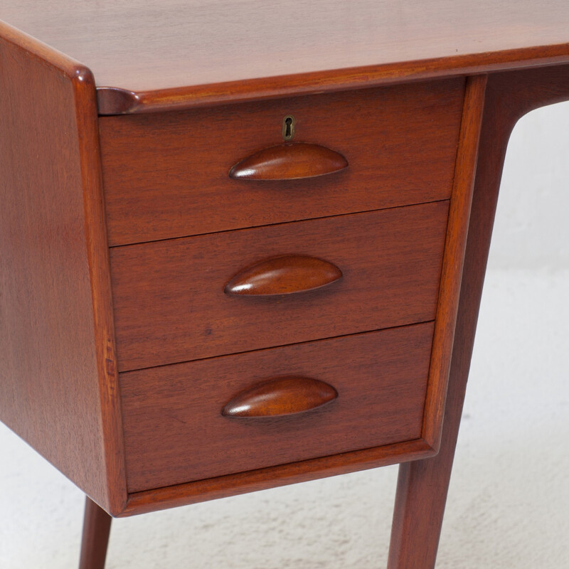
[[[354,450],[341,455],[307,459],[228,474],[164,488],[129,494],[127,507],[119,515],[154,511],[163,507],[192,504],[204,499],[242,494],[256,489],[302,482],[326,475],[353,472],[396,462],[409,462],[437,454],[440,445],[445,395],[454,341],[454,325],[466,246],[467,226],[472,203],[474,169],[477,163],[479,134],[484,107],[486,76],[469,78],[464,96],[457,162],[450,199],[445,252],[442,261],[439,301],[431,353],[421,436],[393,445]]]

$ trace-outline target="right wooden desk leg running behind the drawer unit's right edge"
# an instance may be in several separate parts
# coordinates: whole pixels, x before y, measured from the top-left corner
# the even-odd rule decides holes
[[[496,132],[493,95],[495,92],[489,82],[479,139],[479,160],[468,222],[440,450],[436,457],[407,462],[399,467],[389,569],[432,569],[437,558],[508,138],[498,136]],[[498,148],[495,146],[496,140]]]

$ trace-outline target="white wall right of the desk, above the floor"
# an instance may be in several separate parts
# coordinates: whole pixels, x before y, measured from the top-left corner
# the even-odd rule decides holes
[[[512,132],[490,267],[569,268],[569,103],[522,117]]]

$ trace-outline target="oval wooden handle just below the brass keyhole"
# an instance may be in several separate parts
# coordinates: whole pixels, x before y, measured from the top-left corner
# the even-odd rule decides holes
[[[245,180],[297,180],[343,170],[348,161],[319,144],[293,142],[265,148],[235,164],[230,178]]]

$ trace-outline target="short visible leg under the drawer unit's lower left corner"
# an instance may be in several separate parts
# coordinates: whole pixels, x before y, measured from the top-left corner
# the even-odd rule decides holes
[[[111,521],[111,516],[105,510],[88,496],[85,497],[79,569],[105,569]]]

